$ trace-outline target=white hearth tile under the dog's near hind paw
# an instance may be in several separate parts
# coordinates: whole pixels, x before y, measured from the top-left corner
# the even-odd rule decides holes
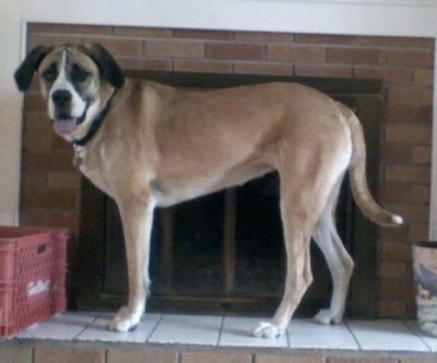
[[[256,338],[251,335],[260,320],[269,321],[269,318],[226,317],[218,344],[221,347],[286,348],[286,335],[273,339]]]

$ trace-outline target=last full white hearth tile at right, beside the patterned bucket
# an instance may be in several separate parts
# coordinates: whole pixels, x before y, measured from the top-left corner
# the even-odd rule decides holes
[[[349,321],[363,350],[429,351],[429,348],[399,320]]]

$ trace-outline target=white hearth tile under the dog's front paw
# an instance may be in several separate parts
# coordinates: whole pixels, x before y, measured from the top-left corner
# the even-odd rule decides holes
[[[106,328],[113,316],[113,314],[103,315],[81,332],[76,340],[144,343],[161,319],[161,315],[146,314],[135,330],[119,332]]]

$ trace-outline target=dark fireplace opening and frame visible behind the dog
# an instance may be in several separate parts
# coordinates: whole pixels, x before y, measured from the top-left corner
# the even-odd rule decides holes
[[[317,79],[178,72],[130,72],[176,86],[225,87],[261,82],[299,82],[352,107],[367,140],[367,174],[375,194],[378,174],[382,84],[378,80]],[[292,97],[293,95],[291,95]],[[347,314],[375,317],[376,229],[343,184],[338,227],[356,268]],[[149,312],[193,314],[271,314],[282,295],[284,253],[277,176],[155,212]],[[115,203],[82,183],[81,273],[75,283],[79,308],[113,309],[127,298],[122,229]],[[331,281],[326,262],[311,244],[314,283],[297,312],[315,314],[327,306]]]

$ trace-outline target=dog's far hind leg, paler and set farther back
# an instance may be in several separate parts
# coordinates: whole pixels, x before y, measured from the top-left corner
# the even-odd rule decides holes
[[[323,253],[332,277],[330,307],[321,309],[315,316],[316,321],[324,325],[341,323],[345,309],[349,283],[354,268],[354,262],[344,248],[335,226],[335,207],[340,187],[341,180],[332,189],[314,234],[314,239]]]

